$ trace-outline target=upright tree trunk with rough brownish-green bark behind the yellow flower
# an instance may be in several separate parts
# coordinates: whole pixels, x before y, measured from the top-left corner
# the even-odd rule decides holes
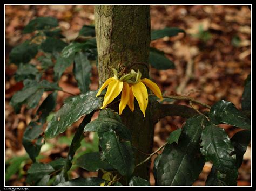
[[[126,68],[142,72],[142,78],[149,76],[149,45],[150,45],[150,8],[134,5],[98,5],[95,6],[95,27],[98,48],[98,67],[100,86],[113,76],[111,68]],[[118,103],[119,104],[119,103]],[[118,104],[113,108],[118,111]],[[136,164],[143,161],[151,153],[154,126],[150,117],[150,102],[146,117],[134,100],[135,110],[125,108],[122,114],[123,123],[131,130],[132,145]],[[139,152],[139,151],[142,152]],[[137,167],[136,176],[149,179],[149,163]]]

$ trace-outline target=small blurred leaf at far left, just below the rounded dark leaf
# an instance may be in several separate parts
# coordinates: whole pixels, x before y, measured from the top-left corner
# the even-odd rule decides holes
[[[38,70],[35,65],[21,63],[18,66],[14,78],[18,82],[25,79],[35,79],[37,74]]]

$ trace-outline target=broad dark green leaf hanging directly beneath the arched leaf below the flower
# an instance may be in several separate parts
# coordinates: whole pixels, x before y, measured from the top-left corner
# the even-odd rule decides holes
[[[130,142],[120,142],[113,130],[98,135],[99,145],[109,164],[120,174],[130,177],[135,166]]]

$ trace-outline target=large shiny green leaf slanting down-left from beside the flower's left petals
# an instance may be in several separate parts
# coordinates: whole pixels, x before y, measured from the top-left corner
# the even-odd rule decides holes
[[[63,133],[80,117],[99,109],[101,104],[102,98],[96,97],[95,91],[70,98],[68,103],[65,103],[48,123],[45,138],[53,138]]]

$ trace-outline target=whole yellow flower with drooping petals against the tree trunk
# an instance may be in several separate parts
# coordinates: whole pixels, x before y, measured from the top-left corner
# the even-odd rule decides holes
[[[102,93],[102,90],[107,87],[107,91],[104,97],[103,105],[100,109],[104,109],[110,104],[114,98],[116,98],[122,91],[121,101],[119,103],[119,115],[122,114],[123,110],[125,109],[126,105],[134,111],[134,97],[139,103],[139,108],[143,112],[145,117],[145,111],[147,108],[147,104],[149,102],[149,95],[147,94],[147,87],[161,100],[163,99],[161,95],[161,91],[156,83],[152,82],[151,80],[144,78],[140,80],[141,73],[138,70],[136,73],[134,70],[131,70],[129,74],[125,74],[120,79],[117,77],[117,72],[114,72],[114,77],[107,79],[102,87],[100,87],[97,95],[99,96]],[[136,81],[132,81],[132,77]],[[145,86],[146,85],[146,86]]]

